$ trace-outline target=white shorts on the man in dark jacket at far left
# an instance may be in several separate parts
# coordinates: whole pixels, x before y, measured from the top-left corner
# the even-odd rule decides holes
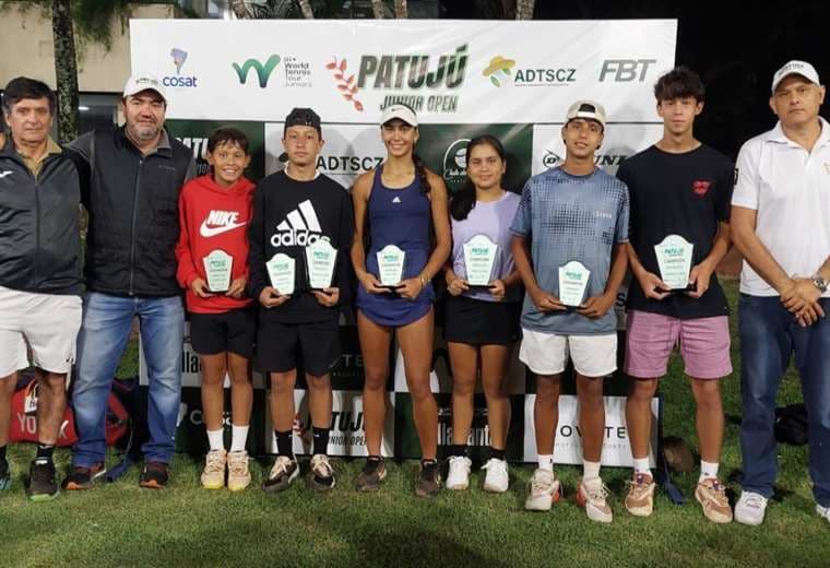
[[[32,365],[48,372],[69,372],[75,362],[81,329],[80,296],[37,294],[0,286],[0,377]]]

